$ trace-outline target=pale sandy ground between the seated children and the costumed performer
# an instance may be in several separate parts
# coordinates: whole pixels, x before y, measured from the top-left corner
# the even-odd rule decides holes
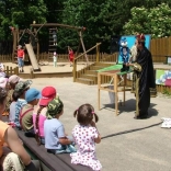
[[[135,96],[130,92],[126,92],[126,105],[119,106],[121,114],[116,116],[105,91],[101,91],[101,111],[98,110],[98,86],[76,83],[72,78],[33,79],[32,88],[42,90],[46,86],[54,86],[64,102],[60,121],[68,135],[77,124],[73,111],[83,103],[94,106],[102,136],[96,145],[102,171],[171,171],[171,130],[160,127],[161,117],[171,116],[171,99],[152,98],[149,118],[134,119]],[[118,98],[122,100],[122,93]]]

